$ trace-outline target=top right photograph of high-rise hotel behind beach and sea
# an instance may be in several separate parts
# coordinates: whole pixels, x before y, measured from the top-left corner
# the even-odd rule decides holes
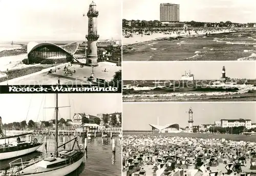
[[[123,61],[256,60],[254,0],[123,0]]]

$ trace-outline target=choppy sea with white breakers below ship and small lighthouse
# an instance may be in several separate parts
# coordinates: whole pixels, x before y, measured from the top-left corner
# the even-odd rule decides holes
[[[256,100],[256,80],[241,82],[238,89],[210,89],[196,85],[216,80],[123,81],[123,102],[239,102]]]

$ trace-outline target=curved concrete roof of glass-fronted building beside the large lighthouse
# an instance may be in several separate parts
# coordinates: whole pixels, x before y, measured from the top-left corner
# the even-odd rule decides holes
[[[36,42],[29,42],[28,46],[27,46],[27,53],[29,54],[31,51],[33,51],[34,49],[36,49],[39,46],[44,46],[44,45],[52,45],[52,46],[56,46],[60,49],[62,49],[63,51],[74,55],[78,49],[79,43],[78,42],[73,42],[70,44],[66,44],[66,45],[62,45],[62,46],[58,46],[54,43],[49,43],[49,42],[43,42],[43,43],[36,43]]]

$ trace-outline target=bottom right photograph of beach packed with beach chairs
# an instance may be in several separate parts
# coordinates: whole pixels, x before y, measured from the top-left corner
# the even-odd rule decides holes
[[[255,109],[255,102],[124,103],[123,175],[253,175]]]

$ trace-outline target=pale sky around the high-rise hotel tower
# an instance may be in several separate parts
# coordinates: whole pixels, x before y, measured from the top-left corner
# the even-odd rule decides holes
[[[123,19],[160,20],[160,4],[180,5],[180,21],[256,22],[255,0],[123,0]]]

